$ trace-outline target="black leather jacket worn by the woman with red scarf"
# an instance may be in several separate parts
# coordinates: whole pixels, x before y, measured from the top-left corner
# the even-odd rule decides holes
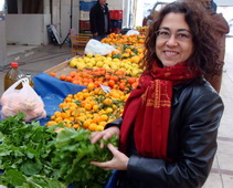
[[[172,161],[138,156],[131,136],[128,170],[119,171],[121,187],[199,188],[206,180],[216,152],[222,100],[203,79],[174,86],[172,100],[168,137]],[[107,127],[120,124],[117,119]]]

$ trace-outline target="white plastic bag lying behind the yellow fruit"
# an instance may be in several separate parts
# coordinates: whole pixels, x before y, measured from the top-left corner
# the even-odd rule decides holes
[[[113,51],[116,51],[116,49],[113,45],[104,44],[95,39],[91,39],[86,46],[85,46],[85,54],[93,53],[94,55],[107,55],[108,53],[112,53]]]

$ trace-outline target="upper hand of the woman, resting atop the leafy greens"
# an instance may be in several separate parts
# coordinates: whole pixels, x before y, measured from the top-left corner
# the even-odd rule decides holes
[[[113,135],[119,136],[119,128],[117,126],[109,127],[103,132],[93,132],[89,139],[92,144],[95,144],[99,139],[109,139]],[[100,147],[104,147],[104,144],[100,144]]]

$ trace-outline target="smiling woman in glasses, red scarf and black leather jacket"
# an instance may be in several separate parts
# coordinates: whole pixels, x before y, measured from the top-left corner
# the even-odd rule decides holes
[[[91,137],[119,135],[119,150],[108,145],[110,161],[92,161],[118,170],[118,187],[198,188],[209,176],[223,103],[203,75],[219,73],[219,49],[206,11],[188,2],[159,12],[123,118]]]

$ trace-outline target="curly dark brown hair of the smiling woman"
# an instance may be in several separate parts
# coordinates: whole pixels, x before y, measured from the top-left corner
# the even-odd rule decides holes
[[[149,27],[145,41],[145,56],[142,66],[150,70],[155,60],[162,67],[162,63],[156,55],[156,31],[163,18],[168,13],[184,13],[184,19],[192,34],[194,51],[188,60],[188,65],[192,70],[199,69],[203,75],[221,74],[221,63],[218,63],[220,46],[214,38],[214,27],[212,27],[211,14],[203,6],[192,0],[180,0],[167,4],[157,15],[156,20]]]

